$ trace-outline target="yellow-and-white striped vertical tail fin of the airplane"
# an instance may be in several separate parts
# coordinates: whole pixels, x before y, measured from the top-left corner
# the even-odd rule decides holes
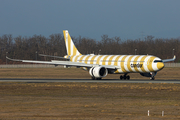
[[[66,50],[68,55],[81,55],[81,53],[77,50],[74,45],[71,36],[69,35],[68,30],[63,30],[64,40],[66,44]]]

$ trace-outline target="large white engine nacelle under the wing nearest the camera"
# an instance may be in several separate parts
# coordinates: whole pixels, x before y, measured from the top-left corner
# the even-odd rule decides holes
[[[92,77],[95,77],[95,78],[102,78],[102,77],[105,77],[108,74],[108,70],[105,67],[102,67],[102,66],[92,67],[89,70],[89,74]]]

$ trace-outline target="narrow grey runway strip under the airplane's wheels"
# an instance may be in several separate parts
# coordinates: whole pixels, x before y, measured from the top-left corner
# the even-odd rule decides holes
[[[49,83],[49,82],[82,82],[82,83],[175,83],[180,84],[180,80],[119,80],[119,79],[7,79],[1,78],[0,82],[26,82],[26,83]]]

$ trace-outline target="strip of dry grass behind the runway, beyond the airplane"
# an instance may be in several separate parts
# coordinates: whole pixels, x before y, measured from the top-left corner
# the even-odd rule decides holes
[[[180,79],[180,68],[164,68],[156,79]],[[131,79],[149,79],[139,73],[130,73]],[[119,79],[120,74],[108,74],[104,79]],[[91,79],[89,72],[78,68],[1,68],[0,78],[57,78]]]

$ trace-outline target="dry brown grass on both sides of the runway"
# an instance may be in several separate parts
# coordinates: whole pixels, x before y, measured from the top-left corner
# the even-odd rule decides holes
[[[156,79],[179,79],[179,70],[165,68]],[[0,76],[90,79],[88,72],[76,68],[1,69]],[[0,82],[0,119],[180,119],[179,93],[179,84]]]

